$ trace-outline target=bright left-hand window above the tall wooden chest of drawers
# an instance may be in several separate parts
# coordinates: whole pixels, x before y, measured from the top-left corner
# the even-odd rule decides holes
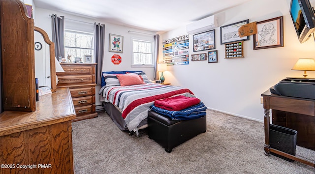
[[[85,55],[92,56],[94,61],[94,35],[93,33],[74,30],[64,30],[64,54],[71,56],[72,62],[85,62]]]

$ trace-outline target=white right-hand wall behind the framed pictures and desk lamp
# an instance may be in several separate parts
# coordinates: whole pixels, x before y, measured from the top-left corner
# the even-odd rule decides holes
[[[311,0],[315,5],[315,0]],[[310,38],[300,44],[289,14],[290,0],[251,0],[240,6],[217,14],[219,26],[249,19],[263,21],[284,16],[284,47],[253,50],[253,38],[244,41],[245,58],[224,58],[224,45],[220,45],[220,27],[215,29],[218,63],[190,61],[189,65],[168,66],[165,82],[188,87],[209,109],[263,121],[260,94],[285,77],[303,77],[302,71],[291,68],[299,58],[315,58],[315,41]],[[185,26],[164,33],[166,39],[187,34]],[[192,35],[189,35],[191,54]],[[160,43],[160,50],[162,50]],[[162,52],[160,57],[162,59]],[[315,77],[315,72],[308,72]]]

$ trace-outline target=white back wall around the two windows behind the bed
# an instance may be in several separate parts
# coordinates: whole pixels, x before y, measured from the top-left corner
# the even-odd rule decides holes
[[[74,16],[70,14],[66,14],[64,12],[58,12],[58,11],[52,11],[48,9],[43,9],[43,8],[36,8],[36,13],[35,13],[35,21],[34,25],[36,27],[39,27],[41,29],[44,29],[49,38],[52,40],[52,29],[51,29],[51,17],[49,15],[51,14],[57,14],[57,16],[64,16],[65,21],[69,19],[72,21],[74,24],[78,24],[86,28],[89,25],[93,25],[95,22],[98,24],[105,24],[105,48],[104,48],[104,61],[103,61],[103,67],[102,71],[123,71],[123,70],[143,70],[148,78],[153,79],[154,77],[154,69],[153,68],[131,68],[131,37],[133,38],[139,38],[139,39],[147,39],[147,38],[152,38],[153,36],[150,35],[142,35],[142,34],[131,34],[128,31],[137,31],[137,32],[145,32],[149,34],[154,34],[153,32],[149,31],[143,31],[139,29],[132,29],[132,28],[127,28],[123,26],[118,26],[110,23],[106,23],[105,21],[98,21],[96,19],[88,19],[88,18],[82,18],[79,16]],[[74,21],[75,20],[75,21]],[[78,21],[81,21],[78,22]],[[65,24],[66,25],[66,24]],[[115,52],[109,52],[108,50],[108,43],[109,43],[109,33],[111,34],[117,34],[124,36],[124,45],[123,45],[123,53],[115,53]],[[114,54],[118,54],[122,57],[122,62],[119,65],[114,65],[111,62],[111,57]],[[99,95],[98,91],[100,89],[100,86],[96,86],[96,106],[100,105],[101,103],[99,102]]]

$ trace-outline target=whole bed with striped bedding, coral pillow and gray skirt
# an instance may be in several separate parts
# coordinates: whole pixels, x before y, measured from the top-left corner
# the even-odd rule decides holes
[[[141,82],[130,80],[130,74]],[[122,77],[135,84],[126,84]],[[143,71],[102,72],[101,86],[98,94],[106,113],[120,130],[129,132],[147,127],[148,111],[154,101],[178,95],[195,97],[184,87],[152,83]]]

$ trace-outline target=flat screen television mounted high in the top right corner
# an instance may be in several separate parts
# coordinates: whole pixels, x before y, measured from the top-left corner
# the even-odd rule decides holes
[[[315,31],[315,15],[309,0],[291,0],[290,14],[300,43]]]

